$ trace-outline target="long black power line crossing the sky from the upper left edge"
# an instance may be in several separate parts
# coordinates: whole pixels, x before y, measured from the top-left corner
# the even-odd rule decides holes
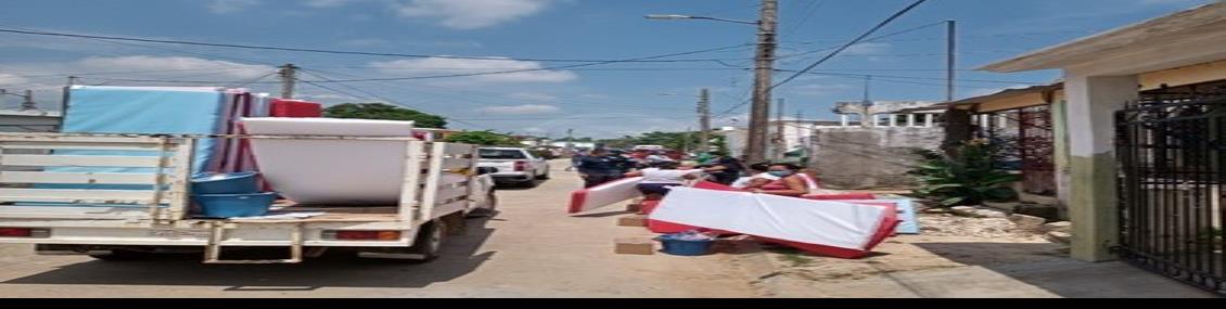
[[[342,54],[342,55],[394,56],[394,58],[418,58],[418,59],[463,59],[463,60],[487,60],[487,61],[592,63],[592,64],[633,63],[633,61],[644,61],[644,63],[647,63],[646,60],[653,59],[653,58],[646,58],[646,59],[625,59],[625,60],[596,60],[596,59],[548,59],[548,58],[425,55],[425,54],[371,53],[371,52],[356,52],[356,50],[329,50],[329,49],[315,49],[315,48],[289,48],[289,47],[272,47],[272,45],[248,45],[248,44],[208,43],[208,42],[173,40],[173,39],[148,39],[148,38],[131,38],[131,37],[114,37],[114,36],[89,36],[89,34],[74,34],[74,33],[34,31],[34,29],[21,29],[21,28],[0,28],[0,32],[4,32],[4,33],[16,33],[16,34],[29,34],[29,36],[44,36],[44,37],[66,37],[66,38],[85,38],[85,39],[140,42],[140,43],[156,43],[156,44],[179,44],[179,45],[199,45],[199,47],[257,49],[257,50],[278,50],[278,52],[315,53],[315,54]],[[741,47],[741,45],[737,45],[737,47]],[[722,49],[720,49],[720,50],[722,50]],[[709,52],[716,52],[716,50],[709,50]],[[707,52],[705,52],[705,53],[707,53]],[[693,53],[687,53],[687,54],[693,54]],[[650,63],[664,63],[664,61],[668,61],[668,63],[696,63],[696,61],[714,61],[714,60],[717,60],[717,59],[657,60],[657,61],[650,61]]]

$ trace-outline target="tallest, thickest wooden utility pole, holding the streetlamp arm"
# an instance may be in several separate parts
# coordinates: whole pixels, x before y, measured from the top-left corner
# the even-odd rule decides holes
[[[771,87],[774,86],[775,48],[777,47],[779,0],[763,0],[758,21],[758,54],[755,56],[754,101],[749,112],[749,139],[745,147],[748,162],[766,159],[770,123]]]

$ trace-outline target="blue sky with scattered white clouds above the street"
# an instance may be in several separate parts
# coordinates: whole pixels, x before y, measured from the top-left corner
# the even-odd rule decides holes
[[[1208,0],[931,0],[880,33],[944,20],[960,31],[959,97],[1048,82],[1058,72],[969,71],[1036,48],[1159,17]],[[512,59],[666,58],[476,77],[302,85],[302,98],[329,104],[395,101],[455,119],[454,128],[562,136],[619,136],[696,126],[694,98],[714,91],[717,125],[744,123],[754,27],[711,21],[649,21],[647,13],[755,20],[753,0],[39,0],[0,11],[0,28],[99,36]],[[781,69],[797,70],[868,29],[910,0],[781,0]],[[944,27],[856,45],[776,92],[787,114],[832,119],[837,101],[944,98]],[[796,55],[799,54],[799,55]],[[705,61],[705,60],[721,60]],[[67,75],[89,85],[230,86],[275,65],[308,70],[306,81],[436,76],[555,67],[574,63],[411,59],[201,48],[0,33],[0,88],[38,91],[56,105]],[[776,78],[787,77],[780,74]],[[118,80],[188,81],[153,83]],[[972,81],[973,80],[973,81]],[[248,87],[273,92],[276,85]],[[325,88],[326,87],[326,88]],[[672,94],[672,96],[661,96]],[[7,107],[17,102],[5,98]]]

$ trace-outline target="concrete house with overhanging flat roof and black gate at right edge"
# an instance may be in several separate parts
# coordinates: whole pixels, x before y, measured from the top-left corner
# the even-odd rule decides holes
[[[1073,256],[1222,291],[1226,2],[982,67],[1048,69],[1064,71],[1052,109]]]

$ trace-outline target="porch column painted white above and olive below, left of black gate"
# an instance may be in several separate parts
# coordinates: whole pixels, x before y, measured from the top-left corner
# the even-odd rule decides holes
[[[1139,98],[1137,76],[1087,77],[1069,72],[1067,129],[1070,170],[1069,217],[1073,221],[1073,258],[1114,260],[1108,250],[1118,244],[1119,213],[1116,188],[1114,112]]]

